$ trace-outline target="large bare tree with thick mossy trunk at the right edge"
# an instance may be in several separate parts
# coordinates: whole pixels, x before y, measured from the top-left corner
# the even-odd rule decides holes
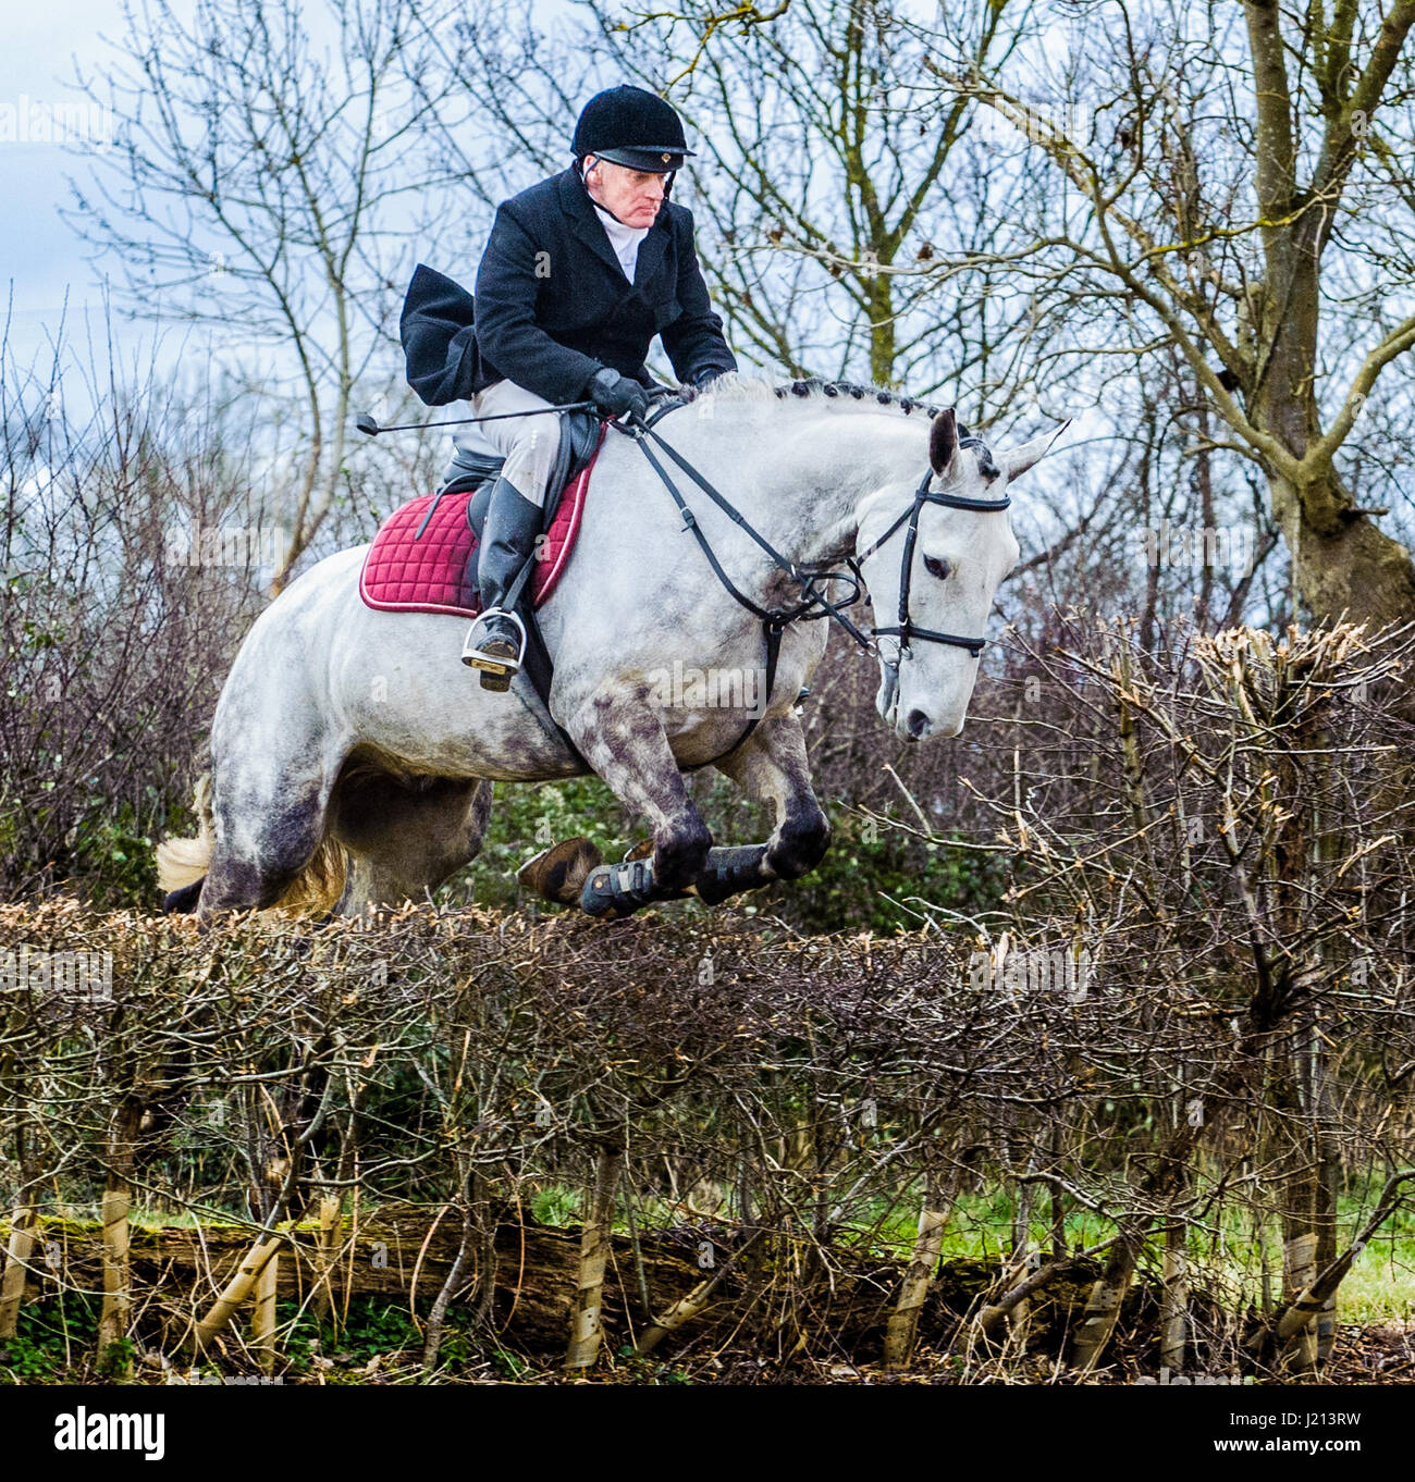
[[[1327,18],[1252,0],[1246,28],[1209,15],[1099,4],[1068,12],[1050,74],[1040,47],[1031,76],[961,52],[930,67],[945,105],[979,99],[1046,162],[1049,252],[1069,264],[1052,304],[1095,296],[1184,356],[1206,442],[1262,470],[1313,614],[1399,619],[1415,568],[1375,523],[1390,511],[1357,504],[1351,462],[1378,379],[1406,375],[1415,345],[1415,4],[1342,0]]]

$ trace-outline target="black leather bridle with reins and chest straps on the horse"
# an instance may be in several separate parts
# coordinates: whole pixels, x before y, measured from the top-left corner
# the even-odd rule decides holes
[[[921,628],[909,617],[909,587],[911,587],[911,576],[914,566],[914,545],[918,539],[918,517],[926,504],[942,504],[945,508],[951,510],[976,510],[983,513],[1003,511],[1012,505],[1012,499],[1007,495],[1003,495],[1003,498],[1000,499],[969,499],[957,494],[934,494],[929,488],[929,485],[933,482],[933,468],[926,468],[924,477],[920,480],[918,488],[914,491],[912,502],[899,513],[899,516],[891,522],[890,528],[878,539],[872,541],[866,550],[845,559],[845,565],[850,568],[848,571],[805,571],[799,563],[789,560],[779,550],[776,550],[776,547],[773,547],[771,542],[748,522],[746,516],[743,516],[743,513],[734,504],[731,504],[730,499],[721,495],[693,467],[693,464],[690,464],[687,458],[684,458],[682,453],[678,452],[676,448],[672,448],[653,430],[654,422],[666,416],[669,412],[676,411],[682,405],[684,405],[682,402],[669,402],[663,406],[656,408],[654,412],[645,421],[635,419],[627,424],[611,422],[610,425],[633,437],[638,442],[639,448],[644,449],[644,456],[648,459],[654,473],[659,474],[660,480],[663,482],[663,486],[673,496],[673,502],[678,505],[678,513],[679,517],[682,519],[684,528],[693,532],[693,536],[697,539],[697,544],[702,548],[703,556],[708,559],[708,563],[716,574],[718,581],[722,582],[727,591],[743,608],[746,608],[749,612],[761,618],[762,633],[767,642],[767,686],[765,686],[765,698],[761,704],[762,713],[765,713],[767,705],[771,700],[771,686],[776,679],[776,661],[777,655],[780,654],[782,633],[785,633],[788,625],[792,622],[798,621],[810,622],[816,618],[831,618],[832,621],[840,624],[840,627],[842,627],[845,633],[850,634],[854,643],[857,643],[862,649],[865,649],[866,654],[872,654],[875,658],[880,659],[880,664],[885,671],[885,683],[888,686],[890,697],[893,697],[894,689],[897,688],[899,662],[909,652],[911,639],[921,639],[927,643],[949,643],[954,648],[966,648],[969,649],[969,652],[973,655],[974,659],[982,654],[983,646],[988,642],[985,637],[970,639],[970,637],[963,637],[958,633],[939,633],[934,628]],[[716,504],[724,514],[727,514],[727,517],[739,529],[742,529],[746,535],[749,535],[767,553],[767,556],[771,557],[773,563],[780,571],[786,572],[786,575],[791,576],[791,579],[798,584],[798,587],[801,588],[801,600],[796,602],[795,606],[762,608],[759,603],[748,597],[743,591],[739,591],[739,588],[733,584],[731,578],[722,569],[722,563],[718,560],[716,553],[713,551],[710,542],[708,541],[708,536],[703,535],[702,528],[697,523],[697,517],[688,508],[687,501],[673,485],[673,480],[669,477],[667,470],[654,455],[653,448],[650,448],[650,440],[657,443],[657,446],[678,465],[678,468],[682,470],[682,473],[685,473],[703,491],[703,494],[706,494],[708,498],[712,499],[713,504]],[[980,437],[963,437],[958,440],[958,446],[980,448],[982,467],[985,470],[991,468],[994,476],[997,474],[997,468],[992,465],[992,455],[988,452],[988,448]],[[872,627],[869,630],[871,636],[866,637],[850,621],[850,618],[844,615],[841,609],[853,606],[860,599],[860,588],[865,585],[865,578],[860,575],[860,563],[866,560],[869,556],[872,556],[877,550],[880,550],[880,547],[884,545],[884,542],[900,526],[905,525],[906,531],[905,531],[903,559],[899,569],[899,622],[887,628]],[[835,581],[845,582],[850,590],[842,599],[832,602],[829,596],[826,596],[826,593],[820,590],[820,587]],[[899,639],[899,652],[893,659],[885,659],[881,655],[880,646],[875,642],[875,639],[881,636]],[[722,754],[728,756],[731,751],[736,751],[742,745],[742,742],[746,741],[746,738],[752,734],[759,719],[761,719],[759,714],[752,716],[748,720],[748,726],[742,732],[740,738],[733,744],[730,751],[724,751]],[[713,760],[721,760],[721,757],[715,757]],[[705,762],[699,765],[708,766],[710,763]]]

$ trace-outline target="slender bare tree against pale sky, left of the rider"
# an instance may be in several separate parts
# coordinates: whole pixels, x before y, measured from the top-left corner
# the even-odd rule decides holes
[[[126,0],[117,58],[82,79],[122,120],[71,218],[136,314],[209,325],[265,415],[291,394],[298,473],[274,590],[347,491],[354,387],[387,353],[402,242],[436,209],[432,101],[387,0]],[[261,369],[257,369],[261,368]],[[271,448],[277,470],[289,451]]]

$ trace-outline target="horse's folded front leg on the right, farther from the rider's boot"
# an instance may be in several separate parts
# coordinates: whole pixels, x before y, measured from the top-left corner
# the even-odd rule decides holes
[[[831,845],[831,824],[811,787],[805,734],[794,710],[762,720],[745,745],[718,763],[718,771],[749,796],[770,802],[776,828],[765,845],[713,849],[722,863],[699,879],[703,900],[722,900],[770,880],[795,880],[820,864]],[[759,860],[753,861],[756,852]]]

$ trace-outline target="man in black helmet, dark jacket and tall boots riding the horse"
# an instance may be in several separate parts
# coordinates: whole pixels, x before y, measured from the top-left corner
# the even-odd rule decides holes
[[[476,276],[479,416],[578,400],[604,416],[642,416],[656,333],[688,385],[737,369],[708,301],[693,216],[667,199],[694,153],[678,113],[642,87],[610,87],[584,105],[571,150],[570,169],[497,207]],[[484,611],[461,654],[488,689],[509,688],[525,657],[525,630],[503,603],[540,532],[559,424],[547,412],[479,428],[506,458],[481,539]]]

